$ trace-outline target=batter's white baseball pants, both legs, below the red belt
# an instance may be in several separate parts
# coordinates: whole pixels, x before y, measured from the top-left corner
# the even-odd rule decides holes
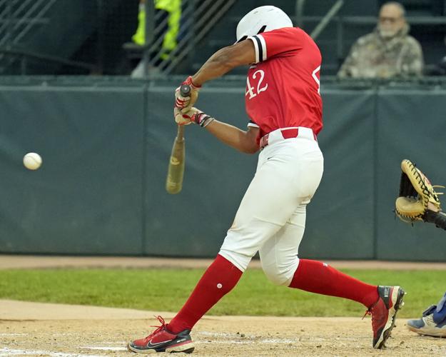
[[[323,154],[308,128],[300,127],[292,139],[283,139],[278,129],[268,141],[219,254],[245,271],[259,251],[270,281],[288,286],[299,264],[305,208],[322,178]]]

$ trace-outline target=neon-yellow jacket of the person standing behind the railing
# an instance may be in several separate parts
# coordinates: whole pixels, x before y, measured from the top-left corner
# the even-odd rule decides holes
[[[132,36],[135,44],[143,46],[146,43],[146,7],[145,0],[140,1],[138,12],[138,28]],[[168,55],[176,48],[176,38],[180,30],[181,20],[181,0],[154,0],[156,11],[166,11],[167,29],[164,34],[163,45],[161,46],[161,59],[168,59]],[[155,27],[158,24],[155,24]]]

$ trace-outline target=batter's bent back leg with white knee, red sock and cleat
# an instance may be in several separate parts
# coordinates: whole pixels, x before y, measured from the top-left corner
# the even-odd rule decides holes
[[[363,303],[372,315],[374,348],[382,348],[394,326],[404,291],[399,286],[363,283],[320,261],[298,259],[305,229],[305,205],[260,249],[263,270],[273,283]],[[294,272],[294,273],[293,273]]]

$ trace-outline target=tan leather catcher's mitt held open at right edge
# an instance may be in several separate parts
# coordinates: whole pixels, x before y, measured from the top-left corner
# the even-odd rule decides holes
[[[405,222],[424,221],[446,229],[446,213],[441,210],[439,194],[429,179],[409,160],[401,162],[400,196],[395,201],[395,213]]]

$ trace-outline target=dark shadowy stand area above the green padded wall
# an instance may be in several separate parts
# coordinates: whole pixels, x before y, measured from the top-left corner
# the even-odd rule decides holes
[[[377,13],[387,0],[344,0],[338,16],[330,21],[316,43],[324,59],[324,75],[336,74],[339,66],[358,37],[370,33],[376,26]],[[193,6],[203,3],[193,2]],[[410,34],[422,46],[430,74],[432,66],[445,56],[446,2],[445,0],[400,0],[406,8],[410,23]],[[132,51],[123,49],[123,44],[131,42],[131,36],[138,26],[138,0],[56,0],[48,6],[45,1],[35,4],[28,1],[2,1],[0,16],[4,20],[0,26],[0,51],[4,49],[30,52],[29,56],[0,54],[0,74],[130,74],[138,61],[131,60]],[[305,1],[303,6],[302,28],[309,34],[328,13],[335,1]],[[193,51],[187,54],[173,73],[184,74],[196,71],[206,59],[223,46],[233,44],[238,21],[256,6],[275,5],[283,9],[294,24],[298,23],[296,1],[290,0],[238,0],[216,23],[212,23],[206,36],[198,43],[197,28],[184,26],[181,31],[194,31],[191,36]],[[31,22],[24,31],[21,20],[33,20],[36,12],[43,10],[42,21]],[[18,9],[22,11],[17,11]],[[46,10],[45,10],[46,9]],[[195,11],[193,11],[195,14]],[[197,12],[198,14],[198,12]],[[198,16],[198,15],[192,16]],[[188,15],[191,16],[191,15]],[[186,16],[187,17],[187,16]],[[200,19],[193,19],[197,24]],[[18,22],[19,21],[19,22]],[[27,23],[26,23],[27,24]],[[158,34],[158,36],[160,36]],[[6,41],[4,41],[6,40]],[[93,68],[63,65],[58,61],[41,59],[39,56],[57,56],[59,59],[83,62]],[[243,69],[235,73],[244,74]]]

